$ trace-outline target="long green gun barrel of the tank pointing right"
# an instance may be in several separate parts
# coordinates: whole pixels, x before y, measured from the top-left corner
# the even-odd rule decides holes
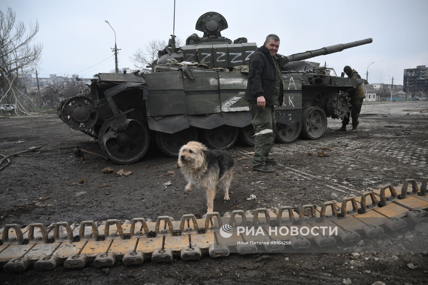
[[[315,56],[321,56],[321,55],[326,55],[330,53],[337,53],[347,48],[357,47],[359,45],[367,45],[367,44],[370,44],[371,42],[373,42],[373,39],[368,38],[360,41],[348,42],[346,44],[330,45],[328,47],[322,47],[318,50],[308,50],[303,53],[294,53],[289,56],[279,56],[279,58],[281,60],[281,63],[284,62],[281,65],[284,65],[291,61],[305,60]]]

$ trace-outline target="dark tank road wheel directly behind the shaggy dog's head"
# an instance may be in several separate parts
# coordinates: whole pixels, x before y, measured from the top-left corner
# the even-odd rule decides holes
[[[177,157],[181,146],[191,140],[198,140],[196,128],[190,127],[174,134],[162,132],[156,132],[155,134],[156,145],[158,145],[160,151],[171,157]]]

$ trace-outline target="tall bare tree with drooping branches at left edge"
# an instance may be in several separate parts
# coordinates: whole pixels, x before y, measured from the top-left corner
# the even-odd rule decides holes
[[[15,113],[31,114],[40,111],[19,89],[18,76],[33,73],[42,56],[43,45],[34,43],[39,23],[30,22],[29,29],[16,22],[12,8],[0,10],[0,104],[15,104]],[[24,107],[29,104],[30,110]]]

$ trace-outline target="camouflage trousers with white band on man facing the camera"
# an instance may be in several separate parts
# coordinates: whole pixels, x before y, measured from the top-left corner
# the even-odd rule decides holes
[[[253,166],[261,166],[269,156],[276,135],[275,107],[266,105],[258,109],[257,102],[250,102],[249,106],[255,132]]]

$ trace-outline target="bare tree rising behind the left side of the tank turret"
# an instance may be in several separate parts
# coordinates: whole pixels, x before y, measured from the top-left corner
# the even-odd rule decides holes
[[[180,38],[175,38],[175,46],[181,47],[182,45],[183,41]],[[134,62],[135,67],[145,70],[146,66],[152,65],[159,58],[159,51],[164,50],[167,46],[164,40],[152,39],[144,47],[139,47],[130,56],[130,59]]]

